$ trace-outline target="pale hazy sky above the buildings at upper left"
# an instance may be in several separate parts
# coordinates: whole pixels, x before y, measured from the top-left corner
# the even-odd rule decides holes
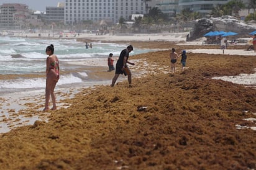
[[[58,2],[65,2],[65,0],[0,0],[0,5],[4,3],[19,3],[29,6],[29,9],[34,11],[45,12],[45,7],[57,6]]]

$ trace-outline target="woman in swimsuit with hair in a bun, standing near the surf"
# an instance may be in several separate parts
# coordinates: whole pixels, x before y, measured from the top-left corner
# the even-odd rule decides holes
[[[60,79],[60,66],[58,63],[58,58],[54,53],[54,46],[49,45],[45,53],[48,55],[46,60],[46,86],[45,86],[45,108],[43,111],[49,110],[48,104],[50,100],[50,96],[52,97],[52,110],[56,110],[56,98],[54,94],[55,86]]]

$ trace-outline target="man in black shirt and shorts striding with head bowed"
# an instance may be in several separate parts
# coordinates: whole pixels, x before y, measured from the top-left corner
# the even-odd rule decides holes
[[[112,79],[111,87],[115,85],[119,74],[124,74],[125,76],[128,76],[129,87],[132,87],[132,74],[130,73],[130,69],[127,66],[127,63],[129,63],[130,65],[135,65],[134,63],[130,63],[128,61],[129,53],[132,50],[134,50],[134,47],[132,47],[132,45],[129,45],[126,49],[121,51],[116,63],[116,73],[114,78]]]

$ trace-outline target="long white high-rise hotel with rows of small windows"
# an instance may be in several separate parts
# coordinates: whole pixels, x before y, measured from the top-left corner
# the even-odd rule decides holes
[[[129,20],[132,14],[145,14],[145,0],[66,0],[65,24],[83,20]]]

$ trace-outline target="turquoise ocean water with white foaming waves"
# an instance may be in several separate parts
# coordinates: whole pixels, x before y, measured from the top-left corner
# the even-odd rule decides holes
[[[47,55],[45,48],[53,44],[55,55],[60,61],[61,78],[57,86],[68,86],[74,83],[88,83],[88,74],[84,64],[97,61],[99,66],[106,64],[107,56],[113,53],[118,57],[121,50],[127,44],[88,42],[93,48],[85,48],[85,43],[75,39],[42,39],[42,38],[18,38],[0,37],[0,74],[6,77],[12,74],[18,75],[15,79],[0,80],[0,95],[8,92],[24,91],[29,89],[45,88],[45,78],[24,78],[25,74],[45,74],[45,61]],[[136,49],[130,56],[152,51],[150,49]],[[101,62],[99,62],[101,61]],[[105,62],[106,61],[106,62]],[[76,63],[75,65],[73,63]],[[64,74],[62,74],[64,73]],[[65,74],[66,73],[66,74]],[[93,84],[93,83],[92,83]]]

